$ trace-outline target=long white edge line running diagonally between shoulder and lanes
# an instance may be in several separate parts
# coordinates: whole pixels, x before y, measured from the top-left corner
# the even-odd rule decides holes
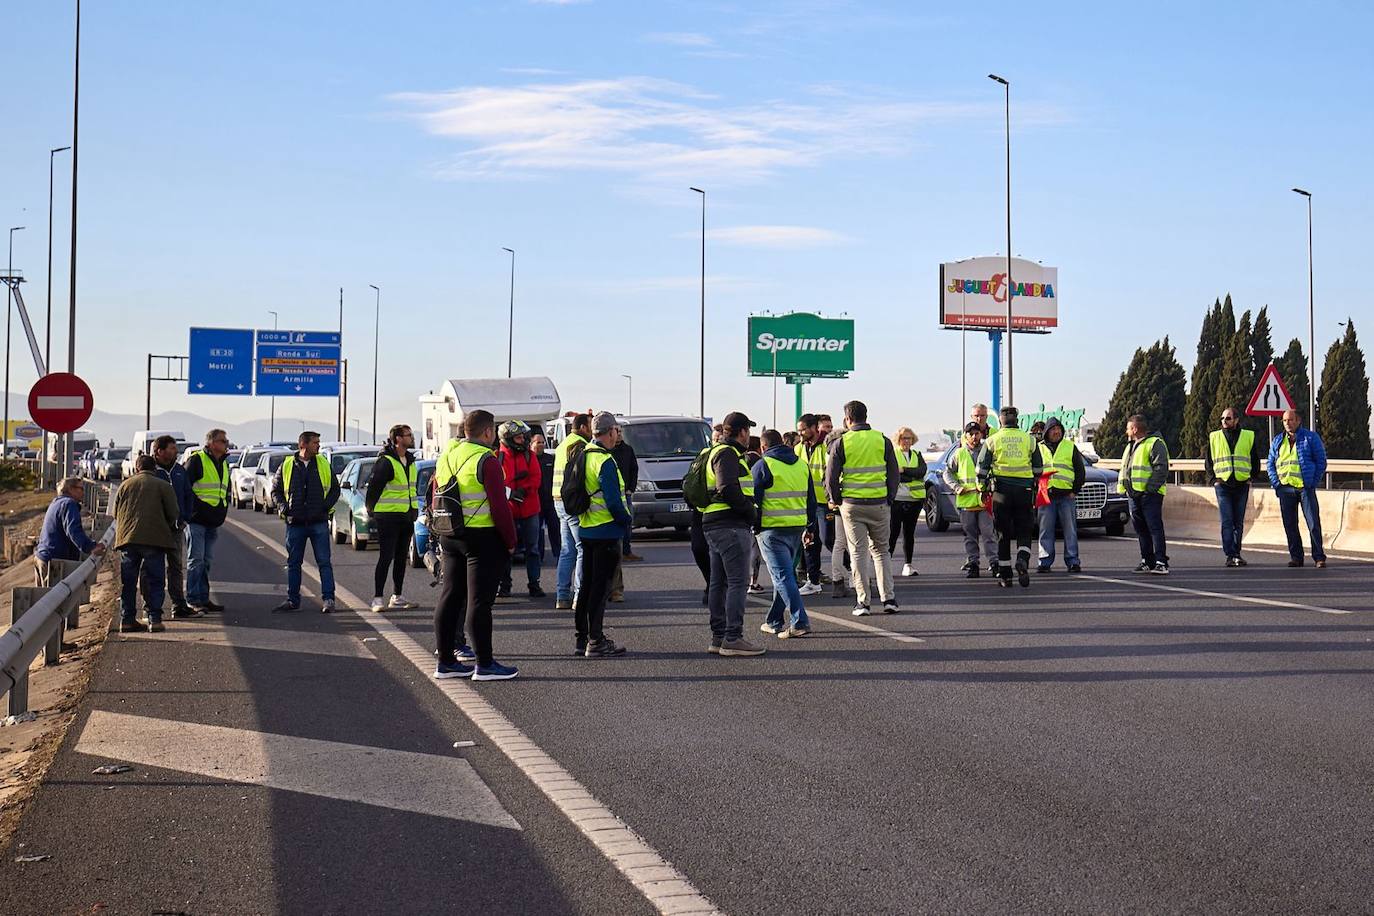
[[[228,525],[267,544],[278,553],[286,555],[276,541],[238,519]],[[305,570],[311,578],[319,578],[313,570]],[[416,643],[408,633],[367,610],[367,602],[342,586],[335,586],[335,595],[345,606],[352,607],[359,617],[375,629],[396,651],[429,677],[434,670],[434,654]],[[616,869],[639,890],[640,894],[661,913],[687,916],[688,913],[716,913],[720,911],[698,891],[686,875],[673,868],[658,850],[650,846],[611,810],[599,802],[572,773],[545,754],[525,732],[482,699],[482,695],[464,680],[434,681],[437,687],[460,713],[467,715],[499,751],[506,754],[534,787],[544,794],[581,831],[591,843],[602,851]],[[499,689],[499,688],[497,688]]]

